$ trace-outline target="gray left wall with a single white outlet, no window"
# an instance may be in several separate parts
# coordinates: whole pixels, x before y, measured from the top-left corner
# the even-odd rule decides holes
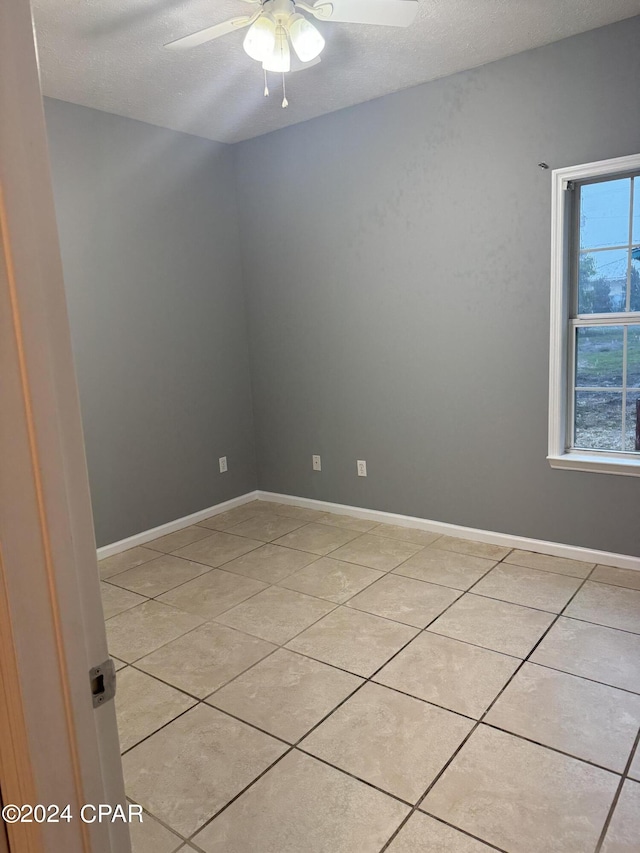
[[[233,151],[60,101],[46,117],[104,545],[256,487]]]

